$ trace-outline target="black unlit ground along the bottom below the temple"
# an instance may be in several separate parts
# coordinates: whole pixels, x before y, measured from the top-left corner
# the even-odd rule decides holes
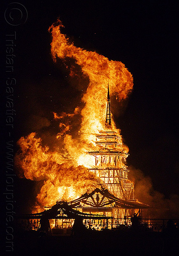
[[[104,230],[102,232],[78,233],[74,236],[44,236],[39,238],[36,231],[23,231],[15,236],[14,253],[18,256],[171,255],[165,254],[163,245],[161,232]]]

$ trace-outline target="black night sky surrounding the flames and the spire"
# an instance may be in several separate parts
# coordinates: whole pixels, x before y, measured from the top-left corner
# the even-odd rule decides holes
[[[16,31],[14,141],[45,129],[55,133],[49,124],[52,112],[74,110],[81,97],[62,63],[55,65],[50,55],[48,28],[60,17],[63,33],[76,47],[121,61],[133,74],[134,90],[114,115],[130,149],[127,165],[149,176],[165,197],[179,195],[177,1],[20,3],[27,9],[27,21],[11,26],[4,20],[4,35]],[[36,122],[39,118],[43,127]],[[16,187],[17,195],[23,194],[20,205],[32,186],[16,178]]]

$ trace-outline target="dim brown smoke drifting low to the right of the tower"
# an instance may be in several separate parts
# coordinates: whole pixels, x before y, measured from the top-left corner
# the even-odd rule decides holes
[[[170,198],[155,190],[151,178],[145,176],[140,169],[129,166],[129,179],[134,182],[134,195],[140,202],[148,204],[150,218],[177,219],[179,215],[179,196]]]

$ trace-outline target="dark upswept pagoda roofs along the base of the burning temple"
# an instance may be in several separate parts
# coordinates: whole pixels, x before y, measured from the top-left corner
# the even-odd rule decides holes
[[[94,195],[97,194],[96,197]],[[100,197],[99,197],[100,196]],[[81,206],[81,204],[86,205],[85,207]],[[48,210],[44,210],[42,212],[38,212],[36,214],[28,214],[28,215],[20,215],[17,216],[17,219],[64,219],[64,218],[82,218],[82,219],[109,219],[111,217],[106,217],[104,215],[93,215],[93,214],[85,214],[79,210],[75,210],[74,208],[84,208],[90,211],[94,209],[94,211],[110,211],[112,208],[148,208],[149,205],[141,203],[137,200],[122,200],[115,197],[113,194],[109,192],[108,189],[94,189],[90,194],[85,193],[80,198],[75,199],[70,202],[57,202]],[[63,210],[63,215],[59,216],[59,209]]]

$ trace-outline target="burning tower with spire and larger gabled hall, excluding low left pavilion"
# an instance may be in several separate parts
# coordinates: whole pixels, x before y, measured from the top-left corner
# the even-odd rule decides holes
[[[108,85],[106,123],[111,125],[110,93]],[[95,215],[111,217],[109,228],[126,224],[137,213],[146,218],[148,205],[134,197],[134,184],[128,179],[129,170],[125,161],[129,154],[122,147],[122,138],[116,132],[103,131],[96,135],[96,151],[87,154],[93,157],[94,167],[89,168],[106,186],[95,189],[89,195],[73,200],[68,204],[78,210]]]

